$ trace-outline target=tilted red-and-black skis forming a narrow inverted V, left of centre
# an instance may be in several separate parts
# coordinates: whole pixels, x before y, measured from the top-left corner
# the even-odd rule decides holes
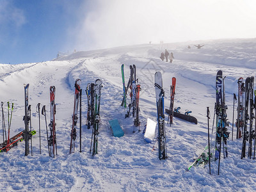
[[[81,79],[76,79],[76,83],[75,83],[75,97],[74,97],[74,112],[73,112],[73,116],[72,116],[72,130],[71,130],[71,140],[70,140],[70,149],[69,149],[69,153],[74,153],[75,152],[75,141],[76,141],[76,130],[77,130],[77,120],[78,120],[78,106],[79,106],[79,102],[80,102],[80,152],[81,152],[81,97],[82,96],[82,90],[81,90]]]

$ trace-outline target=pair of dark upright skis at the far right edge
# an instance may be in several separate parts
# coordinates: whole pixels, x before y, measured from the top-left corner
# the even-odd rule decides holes
[[[253,119],[255,114],[253,114],[253,108],[255,108],[255,102],[253,103],[253,82],[254,77],[247,77],[244,84],[244,129],[243,129],[243,146],[241,159],[245,157],[246,154],[246,141],[248,141],[248,157],[252,158],[252,140],[255,140],[255,129],[253,130]],[[256,100],[254,98],[254,100]],[[256,109],[255,109],[256,113]],[[247,130],[249,124],[249,131]],[[256,122],[255,122],[256,128]],[[254,156],[255,159],[255,141],[254,141]]]

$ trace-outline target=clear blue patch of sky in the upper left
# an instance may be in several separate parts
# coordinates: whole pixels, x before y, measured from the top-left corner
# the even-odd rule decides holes
[[[84,11],[79,0],[0,0],[0,63],[47,61],[73,51],[70,31]]]

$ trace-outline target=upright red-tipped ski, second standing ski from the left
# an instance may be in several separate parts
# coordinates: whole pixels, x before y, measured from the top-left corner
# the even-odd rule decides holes
[[[50,87],[50,101],[51,101],[51,122],[49,124],[50,136],[49,136],[49,150],[50,156],[55,157],[57,155],[57,145],[56,145],[56,123],[55,123],[55,114],[56,114],[56,105],[55,105],[55,86]],[[55,152],[56,149],[56,152]]]

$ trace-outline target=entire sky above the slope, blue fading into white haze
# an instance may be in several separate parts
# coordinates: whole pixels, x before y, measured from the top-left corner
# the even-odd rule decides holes
[[[0,63],[119,45],[256,37],[255,0],[0,0]]]

